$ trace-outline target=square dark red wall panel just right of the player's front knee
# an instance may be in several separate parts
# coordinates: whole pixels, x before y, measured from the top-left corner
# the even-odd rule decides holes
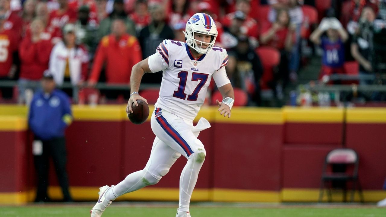
[[[280,190],[282,125],[215,124],[214,187]]]

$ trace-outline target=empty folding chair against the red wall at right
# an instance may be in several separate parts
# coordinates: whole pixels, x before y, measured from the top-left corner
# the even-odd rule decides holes
[[[359,191],[361,202],[364,201],[362,188],[358,179],[358,154],[349,148],[338,148],[330,151],[323,166],[320,183],[319,202],[323,200],[324,189],[327,187],[328,202],[332,201],[332,188],[343,189],[343,202],[346,202],[347,182],[352,182],[351,202],[354,201],[355,190]]]

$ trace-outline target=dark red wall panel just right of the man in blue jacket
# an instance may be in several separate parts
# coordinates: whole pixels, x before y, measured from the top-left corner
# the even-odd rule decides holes
[[[70,185],[103,186],[121,181],[122,129],[120,121],[74,121],[70,125],[66,131]]]

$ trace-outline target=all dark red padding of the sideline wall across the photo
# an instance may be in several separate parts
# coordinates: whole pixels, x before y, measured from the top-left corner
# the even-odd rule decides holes
[[[342,145],[342,124],[235,124],[215,122],[198,137],[207,158],[197,188],[279,191],[281,188],[318,188],[326,154]],[[365,190],[380,190],[386,176],[386,124],[352,124],[346,146],[359,153],[359,176]],[[27,132],[0,132],[3,151],[0,192],[25,191],[34,183]],[[115,185],[142,170],[154,134],[150,123],[74,121],[67,129],[68,171],[71,186]],[[27,142],[28,141],[28,142]],[[27,145],[26,145],[27,144]],[[152,187],[178,188],[186,159],[181,157]],[[20,181],[21,180],[21,181]],[[51,183],[56,184],[52,174]],[[31,184],[32,183],[32,184]]]

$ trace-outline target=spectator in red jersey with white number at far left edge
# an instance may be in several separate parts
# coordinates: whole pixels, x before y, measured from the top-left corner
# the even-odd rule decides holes
[[[4,17],[0,17],[0,81],[12,77],[15,71],[12,54],[17,50],[17,38],[14,32],[4,29],[4,23]],[[0,92],[3,98],[12,98],[12,88],[3,87]]]

